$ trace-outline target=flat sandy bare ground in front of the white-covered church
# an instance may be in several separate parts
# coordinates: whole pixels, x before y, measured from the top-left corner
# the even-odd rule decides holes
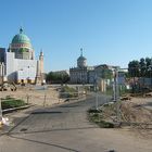
[[[63,102],[59,99],[59,92],[55,88],[34,89],[34,87],[20,88],[16,91],[2,91],[0,92],[0,98],[5,98],[7,96],[23,99],[25,102],[36,104],[36,105],[53,105],[55,103]]]

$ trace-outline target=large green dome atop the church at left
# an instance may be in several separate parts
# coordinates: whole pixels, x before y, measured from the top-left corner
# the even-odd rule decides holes
[[[30,39],[23,34],[23,29],[21,28],[20,34],[13,37],[12,43],[30,43]]]

